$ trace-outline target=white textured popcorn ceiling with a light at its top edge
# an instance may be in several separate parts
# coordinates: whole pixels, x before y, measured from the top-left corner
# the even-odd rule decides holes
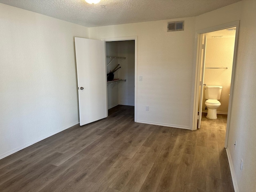
[[[240,0],[0,0],[86,27],[198,16]],[[104,7],[102,7],[104,6]]]

